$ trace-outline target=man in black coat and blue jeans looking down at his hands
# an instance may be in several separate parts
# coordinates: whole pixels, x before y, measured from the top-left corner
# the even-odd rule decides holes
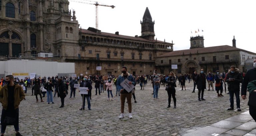
[[[234,110],[234,94],[236,96],[236,108],[237,111],[241,111],[240,109],[240,83],[242,83],[243,77],[235,66],[231,66],[230,70],[226,76],[226,82],[228,83],[228,91],[229,91],[229,100],[230,107],[228,110]]]

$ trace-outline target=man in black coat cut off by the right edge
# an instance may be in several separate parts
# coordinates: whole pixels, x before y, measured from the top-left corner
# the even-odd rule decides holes
[[[247,85],[249,82],[253,80],[256,80],[256,58],[254,58],[254,61],[253,61],[253,69],[248,70],[244,77],[242,87],[241,87],[242,99],[246,99]],[[249,99],[250,99],[250,95],[249,95]],[[249,106],[249,113],[253,119],[256,118],[256,108]]]

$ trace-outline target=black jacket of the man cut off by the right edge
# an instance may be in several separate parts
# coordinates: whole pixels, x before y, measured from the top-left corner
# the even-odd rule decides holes
[[[246,95],[247,85],[249,82],[253,80],[256,80],[256,68],[253,68],[247,71],[242,83],[241,95]]]

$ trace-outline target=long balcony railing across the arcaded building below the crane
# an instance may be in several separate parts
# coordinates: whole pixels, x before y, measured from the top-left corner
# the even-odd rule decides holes
[[[121,58],[97,58],[97,57],[65,57],[66,60],[95,60],[95,61],[124,61],[124,62],[155,62],[155,60],[123,59]]]

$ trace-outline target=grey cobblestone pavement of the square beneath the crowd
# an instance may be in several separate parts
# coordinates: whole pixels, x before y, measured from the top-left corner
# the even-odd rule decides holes
[[[94,84],[92,86],[94,87]],[[230,105],[228,94],[223,93],[224,97],[217,97],[216,91],[206,90],[204,97],[206,101],[199,102],[197,89],[196,93],[191,93],[192,82],[186,82],[186,91],[181,91],[178,82],[177,86],[177,108],[174,109],[173,99],[171,108],[167,108],[168,95],[164,90],[165,87],[161,85],[158,92],[159,99],[153,100],[152,85],[147,84],[145,90],[140,90],[137,84],[135,91],[137,103],[134,103],[132,98],[133,119],[128,118],[127,103],[125,103],[125,118],[118,118],[120,97],[107,101],[107,91],[101,95],[95,95],[95,88],[93,88],[92,110],[87,109],[86,102],[85,110],[80,111],[82,98],[78,90],[76,90],[76,97],[69,99],[72,107],[69,106],[66,97],[64,108],[59,108],[60,98],[57,97],[53,105],[40,102],[40,97],[39,102],[36,103],[35,96],[31,96],[31,90],[28,90],[26,100],[23,100],[19,106],[20,132],[24,136],[179,136],[249,110],[248,100],[241,100],[242,112],[228,111],[227,108]],[[115,86],[113,89],[115,94]],[[68,96],[70,96],[70,89]],[[43,100],[46,101],[46,97]],[[13,126],[7,126],[6,135],[13,134]]]

